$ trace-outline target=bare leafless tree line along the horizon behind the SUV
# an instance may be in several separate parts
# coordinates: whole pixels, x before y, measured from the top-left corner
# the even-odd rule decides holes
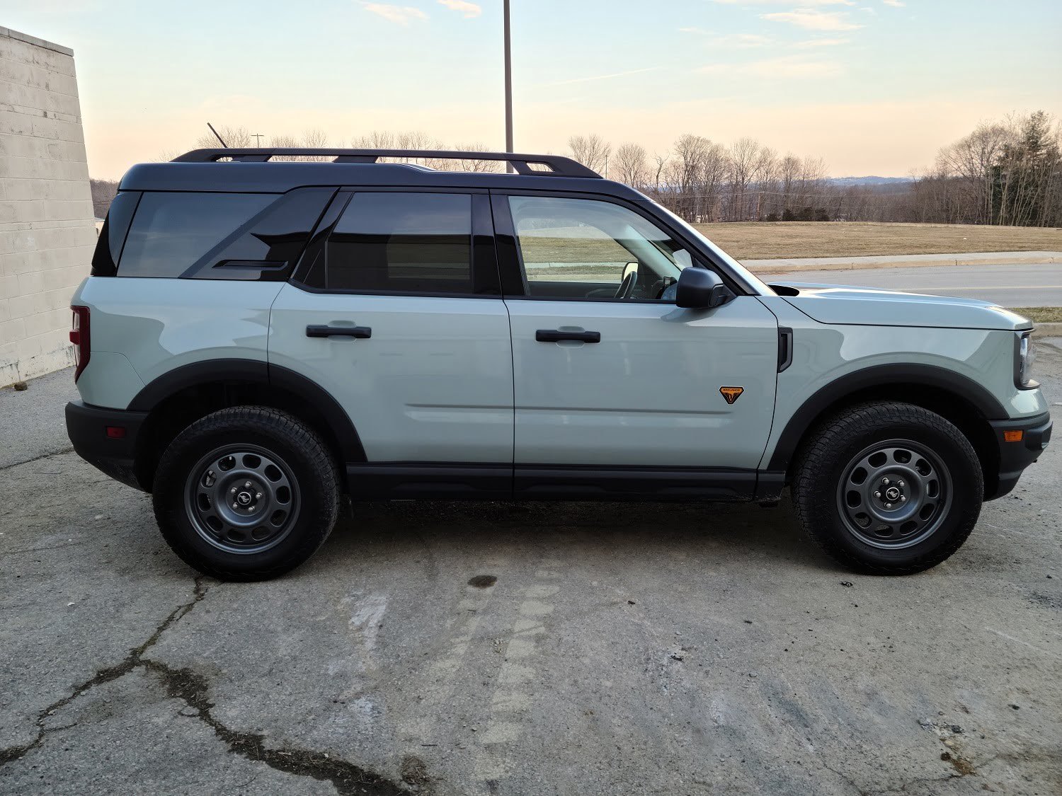
[[[245,127],[219,127],[228,146],[257,145]],[[324,149],[320,129],[268,138],[271,148]],[[347,144],[341,144],[347,145]],[[349,141],[355,149],[485,151],[479,142],[447,145],[419,132],[375,131]],[[196,149],[218,146],[207,134]],[[685,134],[663,153],[639,143],[614,146],[600,135],[568,139],[570,157],[626,183],[687,221],[878,221],[1013,226],[1062,225],[1062,127],[1043,111],[984,122],[940,150],[933,166],[909,181],[840,185],[820,157],[780,154],[754,138],[730,144]],[[160,159],[170,159],[166,155]],[[282,156],[281,160],[327,160]],[[383,158],[441,170],[496,172],[492,160]],[[92,180],[97,214],[106,212],[117,184]]]

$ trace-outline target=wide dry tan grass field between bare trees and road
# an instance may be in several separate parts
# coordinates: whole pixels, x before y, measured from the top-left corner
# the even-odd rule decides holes
[[[697,228],[739,260],[969,252],[1062,252],[1062,229],[966,224],[737,222]]]

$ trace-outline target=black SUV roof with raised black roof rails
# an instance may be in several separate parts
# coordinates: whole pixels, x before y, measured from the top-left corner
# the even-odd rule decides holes
[[[276,156],[332,157],[328,161],[271,160]],[[376,162],[380,157],[503,160],[519,173],[436,171],[415,163]],[[559,155],[422,150],[213,149],[193,150],[171,162],[141,163],[119,186],[125,191],[233,191],[282,193],[305,186],[410,188],[536,188],[604,193],[645,200],[637,191],[602,179]]]

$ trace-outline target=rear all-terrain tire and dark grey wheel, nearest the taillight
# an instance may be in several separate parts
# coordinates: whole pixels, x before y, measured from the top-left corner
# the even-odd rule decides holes
[[[223,581],[264,581],[295,569],[328,538],[340,482],[328,448],[301,420],[234,406],[170,444],[153,502],[162,537],[186,564]]]

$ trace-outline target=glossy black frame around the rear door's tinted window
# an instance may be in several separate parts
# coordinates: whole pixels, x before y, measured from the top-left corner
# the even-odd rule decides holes
[[[307,283],[306,279],[312,265],[312,258],[321,254],[328,243],[336,224],[342,218],[347,204],[356,193],[457,193],[470,197],[472,202],[472,255],[470,270],[473,283],[482,269],[483,275],[494,276],[494,293],[449,293],[449,292],[415,292],[406,290],[360,290],[347,288],[322,288]],[[338,205],[338,207],[337,207]],[[335,211],[333,211],[335,208]],[[332,198],[331,205],[325,210],[319,222],[319,230],[311,238],[303,252],[303,257],[288,280],[294,287],[307,293],[322,293],[348,296],[404,296],[409,298],[494,298],[501,299],[501,277],[498,269],[498,257],[494,243],[494,223],[491,213],[490,191],[485,188],[458,188],[449,186],[343,186]],[[326,263],[327,266],[327,263]]]

